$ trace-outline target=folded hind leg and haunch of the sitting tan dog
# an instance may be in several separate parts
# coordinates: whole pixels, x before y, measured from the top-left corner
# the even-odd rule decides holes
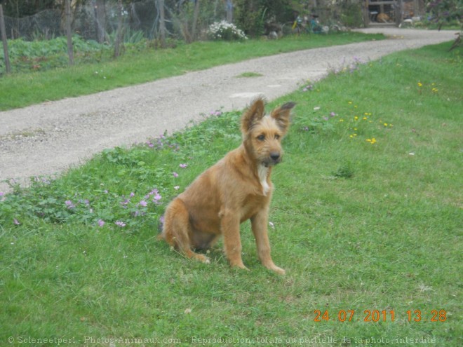
[[[191,234],[192,226],[189,222],[187,207],[182,200],[176,198],[167,207],[166,215],[164,215],[164,226],[161,238],[166,240],[169,245],[182,252],[187,258],[209,263],[208,257],[192,251]]]

